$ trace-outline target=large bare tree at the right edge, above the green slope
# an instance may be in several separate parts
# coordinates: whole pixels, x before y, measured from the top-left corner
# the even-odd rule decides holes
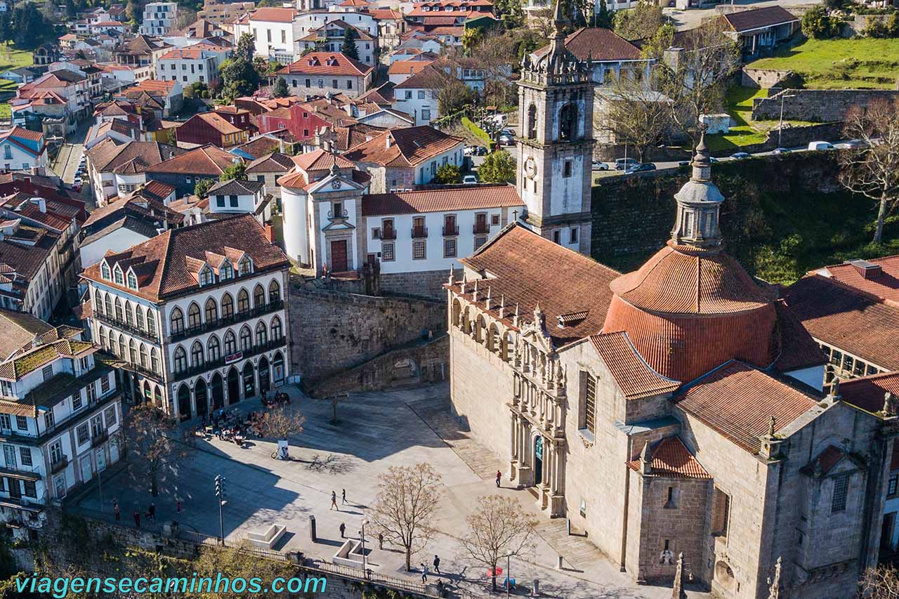
[[[843,133],[859,139],[861,147],[841,153],[840,182],[879,203],[873,240],[878,244],[884,237],[884,219],[899,200],[899,100],[853,108]]]

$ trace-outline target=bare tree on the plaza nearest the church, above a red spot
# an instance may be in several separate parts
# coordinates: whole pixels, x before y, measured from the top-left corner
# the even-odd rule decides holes
[[[530,550],[537,523],[521,510],[517,501],[502,495],[481,497],[475,512],[466,520],[468,530],[460,539],[462,546],[472,559],[490,568],[495,591],[500,559]]]

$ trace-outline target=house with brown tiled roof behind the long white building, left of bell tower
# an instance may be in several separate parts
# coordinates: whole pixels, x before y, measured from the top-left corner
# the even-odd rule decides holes
[[[433,181],[442,165],[462,165],[465,140],[428,126],[389,130],[343,155],[371,177],[371,193]]]

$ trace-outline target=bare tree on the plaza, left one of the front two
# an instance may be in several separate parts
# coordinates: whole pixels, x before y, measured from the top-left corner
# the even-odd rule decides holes
[[[432,518],[440,500],[441,475],[431,464],[391,466],[378,477],[378,497],[369,517],[387,541],[405,549],[405,570],[412,555],[423,550],[434,534]]]

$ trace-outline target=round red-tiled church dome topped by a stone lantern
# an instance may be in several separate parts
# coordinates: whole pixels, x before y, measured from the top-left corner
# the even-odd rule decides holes
[[[626,331],[659,374],[684,382],[728,360],[768,366],[775,358],[773,301],[721,251],[717,218],[724,200],[708,180],[704,139],[693,176],[675,194],[672,239],[643,266],[610,283],[603,333]]]

